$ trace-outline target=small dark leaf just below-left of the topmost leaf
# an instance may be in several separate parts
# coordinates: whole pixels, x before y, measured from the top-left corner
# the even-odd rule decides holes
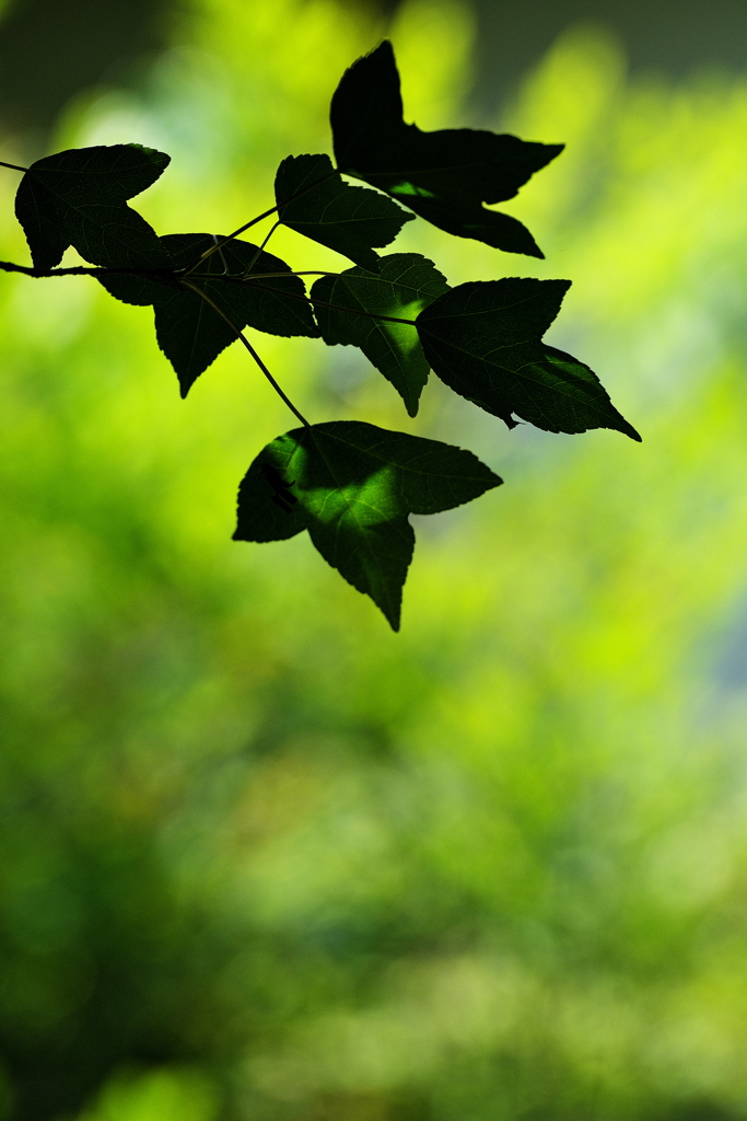
[[[284,224],[376,270],[372,245],[389,245],[405,222],[400,206],[373,191],[351,187],[332,166],[329,156],[289,156],[276,176],[278,217]]]

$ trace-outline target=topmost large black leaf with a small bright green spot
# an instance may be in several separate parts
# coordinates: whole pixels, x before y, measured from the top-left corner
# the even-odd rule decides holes
[[[339,170],[385,191],[447,233],[542,257],[521,222],[483,203],[513,198],[564,146],[476,129],[422,132],[405,124],[402,112],[394,52],[384,40],[345,72],[332,99]]]

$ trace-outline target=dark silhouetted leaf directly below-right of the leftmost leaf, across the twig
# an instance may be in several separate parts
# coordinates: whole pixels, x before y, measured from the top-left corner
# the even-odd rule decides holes
[[[174,267],[188,268],[221,239],[209,233],[171,233],[161,240]],[[249,269],[249,279],[239,280]],[[256,280],[251,279],[253,274]],[[279,257],[234,239],[185,280],[204,291],[239,331],[250,326],[272,335],[318,337],[304,281],[281,274],[290,274],[290,268]],[[174,274],[158,281],[115,274],[99,279],[112,296],[127,304],[153,305],[158,345],[177,372],[183,397],[221,351],[236,340],[236,332],[225,319]]]

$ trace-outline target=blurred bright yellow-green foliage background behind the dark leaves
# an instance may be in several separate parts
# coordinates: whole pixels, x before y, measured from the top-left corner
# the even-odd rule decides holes
[[[50,131],[41,95],[9,110],[3,158],[161,148],[138,209],[226,232],[281,158],[329,150],[385,30],[408,118],[476,123],[454,2],[159,19]],[[572,279],[551,339],[644,443],[507,433],[436,383],[410,421],[358,352],[260,336],[315,420],[506,480],[418,519],[399,636],[306,536],[230,540],[292,424],[237,348],[183,402],[149,309],[0,277],[8,1118],[747,1117],[747,78],[629,76],[575,24],[479,123],[567,142],[506,207],[548,260],[420,221],[396,248],[452,284]],[[25,261],[16,186],[0,252]]]

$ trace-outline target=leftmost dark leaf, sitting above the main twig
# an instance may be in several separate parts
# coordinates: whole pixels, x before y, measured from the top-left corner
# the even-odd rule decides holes
[[[93,265],[167,267],[156,231],[127,200],[159,177],[169,157],[136,143],[71,148],[31,164],[16,195],[34,267],[53,269],[68,245]]]

